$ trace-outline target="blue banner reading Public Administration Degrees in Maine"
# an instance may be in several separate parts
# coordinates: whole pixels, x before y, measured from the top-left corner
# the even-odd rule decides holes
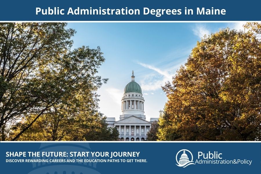
[[[260,1],[3,1],[0,21],[260,21]]]

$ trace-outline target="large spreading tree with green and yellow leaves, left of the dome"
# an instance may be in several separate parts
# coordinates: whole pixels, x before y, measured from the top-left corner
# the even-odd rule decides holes
[[[96,74],[105,59],[99,47],[72,50],[75,30],[66,25],[0,24],[2,141],[16,140],[29,128],[61,140],[80,120],[101,120],[96,90],[107,79]]]

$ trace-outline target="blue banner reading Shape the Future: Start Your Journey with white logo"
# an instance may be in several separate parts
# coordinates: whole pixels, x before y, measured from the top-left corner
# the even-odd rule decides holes
[[[260,142],[1,142],[0,148],[2,173],[259,173],[261,167]]]

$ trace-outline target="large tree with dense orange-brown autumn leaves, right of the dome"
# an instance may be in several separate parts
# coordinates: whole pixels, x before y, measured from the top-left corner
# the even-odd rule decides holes
[[[261,139],[261,24],[202,38],[172,83],[160,140]]]

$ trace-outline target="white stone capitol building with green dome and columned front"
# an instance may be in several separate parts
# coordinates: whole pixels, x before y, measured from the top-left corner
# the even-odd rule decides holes
[[[121,141],[146,140],[151,123],[158,121],[158,118],[151,118],[150,121],[146,120],[144,102],[142,89],[135,82],[135,76],[132,71],[131,82],[124,88],[122,112],[119,121],[116,121],[115,117],[106,119],[109,124],[108,127],[116,127],[118,129]]]

